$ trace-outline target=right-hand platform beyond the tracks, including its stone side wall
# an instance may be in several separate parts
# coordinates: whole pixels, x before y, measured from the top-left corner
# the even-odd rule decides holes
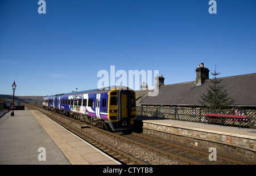
[[[240,153],[256,163],[256,130],[137,116],[143,134],[186,143],[195,148],[217,147],[222,153]]]

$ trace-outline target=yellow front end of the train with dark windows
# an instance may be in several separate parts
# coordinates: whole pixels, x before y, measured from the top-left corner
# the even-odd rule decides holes
[[[113,131],[125,131],[133,128],[137,116],[134,91],[113,89],[109,92],[108,107],[108,123]]]

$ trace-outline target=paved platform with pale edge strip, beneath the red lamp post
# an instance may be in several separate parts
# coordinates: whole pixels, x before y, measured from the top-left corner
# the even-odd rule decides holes
[[[118,165],[37,110],[0,117],[0,165]]]

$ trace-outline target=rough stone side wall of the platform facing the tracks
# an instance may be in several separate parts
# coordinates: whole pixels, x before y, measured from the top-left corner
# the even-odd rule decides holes
[[[256,140],[245,138],[245,136],[196,131],[148,122],[143,122],[143,134],[189,145],[190,147],[203,149],[204,151],[208,151],[210,147],[215,147],[219,154],[232,157],[236,156],[237,158],[243,158],[244,160],[254,161],[256,163]]]

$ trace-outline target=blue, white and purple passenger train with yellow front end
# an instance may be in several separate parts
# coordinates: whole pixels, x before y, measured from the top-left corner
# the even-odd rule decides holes
[[[45,96],[43,106],[113,131],[131,130],[137,117],[135,92],[126,87]]]

